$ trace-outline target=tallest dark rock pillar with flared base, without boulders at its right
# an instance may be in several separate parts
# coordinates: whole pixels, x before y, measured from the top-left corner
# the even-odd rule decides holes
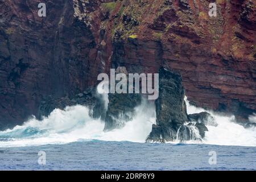
[[[188,121],[181,76],[166,68],[159,69],[159,97],[155,101],[156,125],[147,142],[176,139],[177,130]],[[158,133],[160,132],[160,133]]]

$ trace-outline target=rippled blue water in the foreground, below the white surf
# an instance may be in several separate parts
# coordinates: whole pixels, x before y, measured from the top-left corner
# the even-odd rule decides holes
[[[38,152],[46,152],[46,165]],[[209,151],[216,151],[210,165]],[[7,170],[255,170],[256,147],[207,144],[74,142],[0,148],[0,169]]]

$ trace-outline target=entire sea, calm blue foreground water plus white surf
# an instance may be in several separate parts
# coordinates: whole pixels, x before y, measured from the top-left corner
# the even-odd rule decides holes
[[[187,102],[188,113],[204,109]],[[0,131],[0,169],[77,170],[255,170],[256,129],[213,111],[203,140],[145,143],[155,123],[154,103],[136,108],[122,129],[104,132],[104,122],[85,106],[55,109],[42,121]],[[255,117],[250,117],[255,122]],[[40,164],[42,152],[46,164]],[[214,163],[212,163],[214,154]]]

